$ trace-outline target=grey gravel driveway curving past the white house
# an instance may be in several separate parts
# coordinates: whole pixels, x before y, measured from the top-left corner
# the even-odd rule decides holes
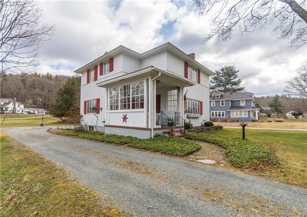
[[[2,129],[3,130],[3,129]],[[6,128],[17,141],[72,171],[135,216],[227,216],[306,212],[307,191],[138,149]]]

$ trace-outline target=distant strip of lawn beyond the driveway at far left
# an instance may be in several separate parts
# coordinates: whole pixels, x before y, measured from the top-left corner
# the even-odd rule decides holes
[[[65,123],[58,122],[59,118],[56,117],[44,117],[45,126],[67,125]],[[2,122],[2,121],[1,121]],[[17,119],[17,120],[4,120],[1,127],[18,127],[18,126],[39,126],[41,124],[41,117],[29,118],[29,119]]]

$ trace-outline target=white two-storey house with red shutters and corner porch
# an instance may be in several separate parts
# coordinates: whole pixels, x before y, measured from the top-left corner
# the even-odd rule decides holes
[[[81,74],[80,112],[90,130],[98,118],[97,130],[106,134],[150,138],[169,131],[169,119],[177,131],[184,121],[201,126],[210,120],[209,76],[214,73],[194,53],[169,42],[144,53],[120,45],[75,72]]]

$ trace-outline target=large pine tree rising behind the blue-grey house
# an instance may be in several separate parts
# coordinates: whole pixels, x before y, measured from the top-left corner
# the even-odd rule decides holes
[[[212,77],[212,87],[216,92],[227,93],[231,89],[234,92],[243,91],[245,87],[240,87],[242,80],[238,76],[239,70],[235,66],[225,65],[220,70],[216,70],[216,75]]]

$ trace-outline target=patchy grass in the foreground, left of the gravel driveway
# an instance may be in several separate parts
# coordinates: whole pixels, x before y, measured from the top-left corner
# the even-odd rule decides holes
[[[40,154],[1,135],[2,216],[122,216]]]

